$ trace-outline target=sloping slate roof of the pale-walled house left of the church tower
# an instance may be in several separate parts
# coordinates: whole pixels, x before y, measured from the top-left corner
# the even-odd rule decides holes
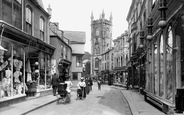
[[[67,37],[72,43],[86,42],[86,33],[82,31],[64,31],[64,37]]]

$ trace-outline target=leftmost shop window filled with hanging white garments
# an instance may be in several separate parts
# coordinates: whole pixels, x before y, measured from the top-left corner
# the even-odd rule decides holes
[[[0,51],[0,85],[1,98],[21,95],[24,93],[23,48],[3,42],[7,51]],[[13,56],[12,56],[13,54]]]

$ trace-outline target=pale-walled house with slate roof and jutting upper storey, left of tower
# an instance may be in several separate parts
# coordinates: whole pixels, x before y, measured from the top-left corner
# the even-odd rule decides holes
[[[64,31],[64,36],[69,39],[72,48],[71,79],[80,80],[83,72],[82,57],[84,55],[86,33],[82,31]]]

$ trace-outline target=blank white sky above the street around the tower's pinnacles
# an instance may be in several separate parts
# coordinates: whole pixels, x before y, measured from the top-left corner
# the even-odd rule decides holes
[[[109,20],[112,13],[112,39],[116,39],[128,29],[126,17],[132,0],[42,0],[44,8],[52,8],[51,22],[59,22],[60,30],[84,31],[85,51],[91,53],[91,13],[99,19],[104,10]],[[46,10],[47,11],[47,10]]]

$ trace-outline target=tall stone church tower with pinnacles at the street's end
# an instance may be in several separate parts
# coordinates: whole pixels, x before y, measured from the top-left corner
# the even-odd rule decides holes
[[[102,11],[98,20],[91,13],[91,75],[97,76],[101,71],[102,54],[112,47],[112,13],[109,20]]]

